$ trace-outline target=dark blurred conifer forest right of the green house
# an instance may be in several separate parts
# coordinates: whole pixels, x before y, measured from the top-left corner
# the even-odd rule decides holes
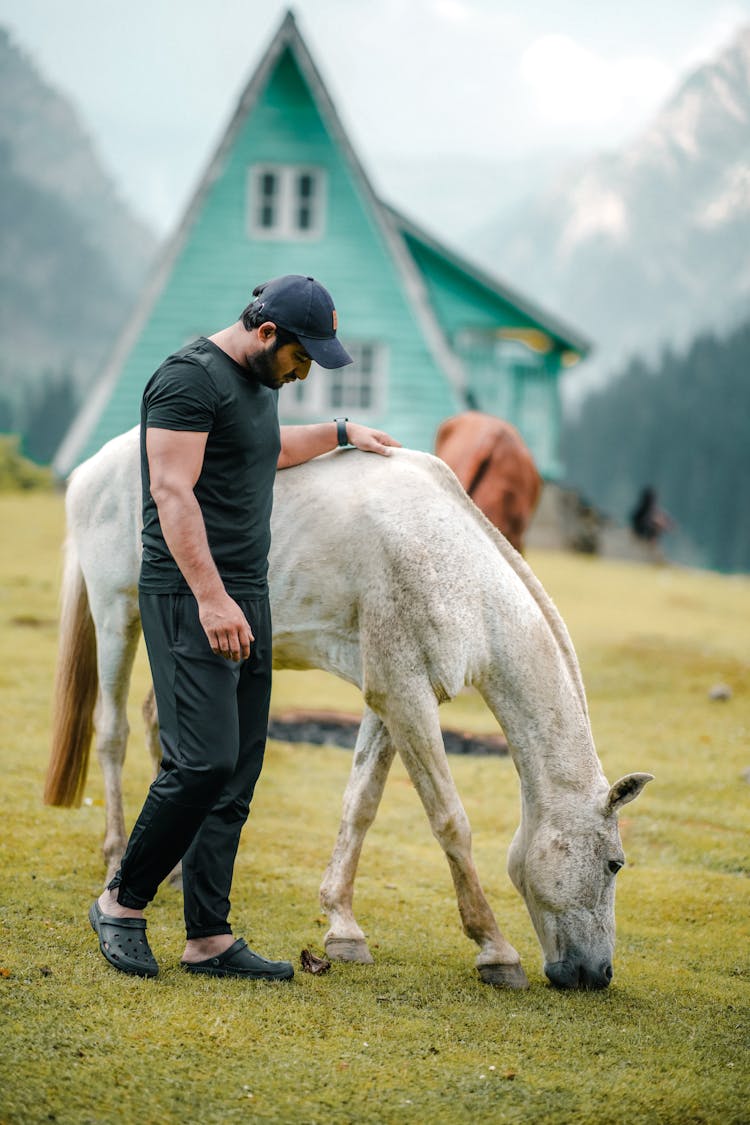
[[[675,560],[750,570],[750,321],[633,360],[568,421],[562,456],[568,483],[622,522],[656,488],[678,525],[665,539]]]

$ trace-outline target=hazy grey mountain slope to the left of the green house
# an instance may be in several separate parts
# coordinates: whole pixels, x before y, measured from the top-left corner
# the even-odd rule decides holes
[[[0,28],[0,393],[91,378],[155,250],[75,110]]]

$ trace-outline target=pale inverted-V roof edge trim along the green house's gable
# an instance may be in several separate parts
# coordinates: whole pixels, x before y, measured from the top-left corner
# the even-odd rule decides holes
[[[422,327],[425,342],[430,349],[437,368],[444,374],[449,382],[461,394],[466,385],[463,367],[459,359],[451,351],[443,330],[434,316],[422,276],[408,253],[403,238],[394,226],[388,210],[381,205],[376,196],[369,178],[352,147],[346,132],[343,127],[336,108],[331,100],[328,91],[323,82],[313,57],[299,34],[295,16],[288,11],[279,30],[271,40],[265,54],[257,64],[253,75],[245,87],[237,108],[211,158],[208,168],[190,201],[184,216],[166,244],[164,251],[155,266],[154,272],[147,282],[141,299],[138,300],[133,316],[125,331],[117,341],[109,362],[102,372],[80,414],[73,422],[64,441],[62,442],[53,461],[54,470],[61,476],[65,476],[76,464],[80,450],[85,444],[89,434],[92,432],[97,421],[101,416],[111,393],[117,385],[123,364],[137,341],[146,324],[150,313],[166,285],[174,263],[182,251],[190,231],[200,214],[209,188],[220,174],[227,154],[240,132],[243,122],[252,112],[265,84],[268,83],[274,68],[279,63],[284,51],[290,51],[295,57],[300,72],[307,81],[310,93],[316,102],[318,111],[326,124],[331,135],[338,145],[346,163],[350,166],[354,181],[358,183],[362,197],[371,208],[373,218],[388,246],[391,258],[396,264],[398,274],[401,278],[407,300],[410,303],[417,323]]]

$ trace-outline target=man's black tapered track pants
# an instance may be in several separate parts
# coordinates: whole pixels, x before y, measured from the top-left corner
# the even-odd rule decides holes
[[[162,763],[109,885],[121,906],[143,909],[182,860],[188,938],[231,934],[234,861],[268,731],[268,597],[237,598],[255,637],[241,664],[211,652],[192,595],[139,601]]]

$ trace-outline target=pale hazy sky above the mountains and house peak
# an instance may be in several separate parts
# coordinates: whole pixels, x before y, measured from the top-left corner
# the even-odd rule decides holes
[[[177,222],[280,0],[0,0],[78,107],[123,196]],[[401,159],[612,147],[750,22],[750,0],[297,0],[299,28],[377,187]],[[394,199],[398,204],[398,199]]]

